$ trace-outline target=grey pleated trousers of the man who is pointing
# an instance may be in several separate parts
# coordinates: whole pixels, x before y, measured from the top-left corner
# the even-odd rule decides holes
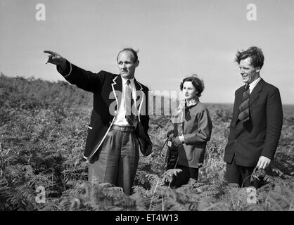
[[[131,194],[139,162],[139,144],[134,131],[111,129],[89,162],[89,181],[122,187]]]

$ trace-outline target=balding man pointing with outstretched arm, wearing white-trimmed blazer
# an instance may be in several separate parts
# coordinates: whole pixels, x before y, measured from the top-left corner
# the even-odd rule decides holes
[[[89,72],[49,53],[47,63],[71,84],[94,94],[91,122],[84,150],[89,161],[89,181],[110,183],[130,195],[139,162],[152,151],[148,136],[148,88],[134,79],[139,60],[136,51],[123,49],[117,55],[120,75]]]

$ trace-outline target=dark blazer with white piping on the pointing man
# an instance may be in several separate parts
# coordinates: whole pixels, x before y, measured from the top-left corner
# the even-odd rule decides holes
[[[67,62],[67,69],[58,72],[70,82],[85,91],[93,92],[93,110],[88,127],[88,136],[84,150],[84,158],[91,158],[103,143],[120,105],[122,95],[122,77],[110,72],[100,71],[93,73],[78,68]],[[139,141],[141,153],[149,155],[152,152],[152,143],[148,136],[148,88],[134,79],[136,86],[136,103],[139,105],[139,122],[135,134]]]

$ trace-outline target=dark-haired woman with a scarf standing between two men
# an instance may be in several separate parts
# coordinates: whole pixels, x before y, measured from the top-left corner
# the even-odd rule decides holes
[[[212,122],[207,108],[199,97],[204,84],[197,75],[186,77],[180,84],[184,100],[174,112],[171,122],[174,130],[168,132],[178,150],[175,169],[181,169],[171,182],[172,187],[187,184],[190,178],[198,179],[198,168],[203,165],[207,141],[210,141]]]

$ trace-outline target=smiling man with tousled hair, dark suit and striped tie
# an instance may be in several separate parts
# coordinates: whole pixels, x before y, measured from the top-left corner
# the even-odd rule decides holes
[[[283,124],[279,89],[260,77],[262,50],[253,46],[238,51],[244,86],[235,92],[230,134],[225,148],[225,179],[231,185],[259,186],[251,179],[254,169],[265,169],[274,159]]]

